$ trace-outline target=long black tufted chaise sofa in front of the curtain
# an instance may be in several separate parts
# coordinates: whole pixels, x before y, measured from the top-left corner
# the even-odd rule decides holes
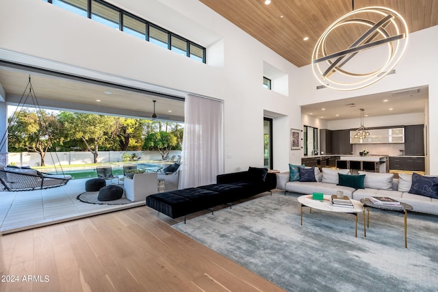
[[[229,204],[276,188],[276,175],[265,168],[220,174],[216,184],[176,189],[146,197],[146,206],[172,218],[182,217],[220,204]]]

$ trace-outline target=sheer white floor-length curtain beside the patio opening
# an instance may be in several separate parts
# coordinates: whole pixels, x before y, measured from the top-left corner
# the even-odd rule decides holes
[[[223,103],[188,94],[179,188],[216,183],[223,173]]]

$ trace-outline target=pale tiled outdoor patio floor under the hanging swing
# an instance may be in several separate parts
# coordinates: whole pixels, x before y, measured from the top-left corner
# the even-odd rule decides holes
[[[76,198],[85,191],[88,179],[70,180],[62,187],[51,189],[0,191],[0,232],[14,233],[145,204],[143,201],[122,205],[81,202]]]

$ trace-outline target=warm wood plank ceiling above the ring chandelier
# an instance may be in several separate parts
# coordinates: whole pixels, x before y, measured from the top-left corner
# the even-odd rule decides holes
[[[292,64],[311,63],[313,47],[339,17],[370,6],[391,8],[404,17],[409,33],[438,25],[438,0],[200,0]],[[333,46],[350,46],[339,34]],[[303,38],[308,37],[305,41]],[[332,47],[333,51],[340,51]]]

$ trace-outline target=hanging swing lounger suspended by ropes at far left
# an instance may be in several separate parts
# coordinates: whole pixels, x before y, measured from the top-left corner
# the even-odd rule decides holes
[[[60,187],[70,180],[68,174],[44,174],[31,168],[1,168],[0,182],[7,191],[32,191]]]

